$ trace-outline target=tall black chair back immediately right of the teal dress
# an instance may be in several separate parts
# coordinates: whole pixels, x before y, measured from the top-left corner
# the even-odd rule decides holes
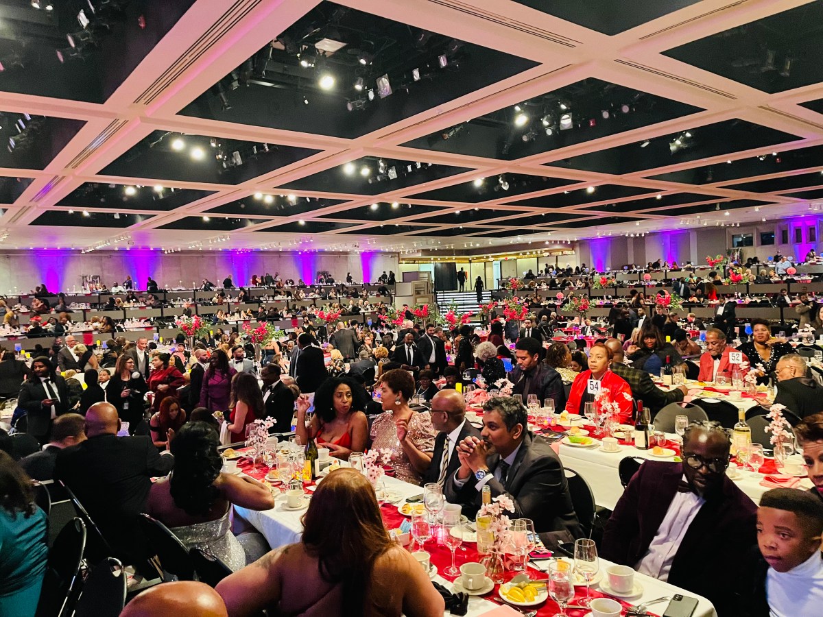
[[[49,550],[35,617],[72,615],[80,588],[80,564],[85,549],[86,525],[80,518],[72,518]]]

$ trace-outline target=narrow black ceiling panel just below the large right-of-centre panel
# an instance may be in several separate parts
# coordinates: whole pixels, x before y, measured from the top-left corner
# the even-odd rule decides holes
[[[434,191],[418,193],[416,199],[432,199],[444,202],[480,203],[500,199],[507,195],[522,195],[548,191],[551,188],[577,184],[578,180],[547,178],[525,174],[500,174],[490,178],[472,180],[450,187],[437,188]]]

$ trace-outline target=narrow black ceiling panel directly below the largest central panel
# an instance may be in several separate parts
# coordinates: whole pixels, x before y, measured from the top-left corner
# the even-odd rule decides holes
[[[377,195],[395,191],[398,188],[448,178],[469,169],[449,165],[431,165],[414,160],[365,156],[345,165],[338,165],[318,174],[287,183],[282,188],[325,193],[351,193],[352,195]]]

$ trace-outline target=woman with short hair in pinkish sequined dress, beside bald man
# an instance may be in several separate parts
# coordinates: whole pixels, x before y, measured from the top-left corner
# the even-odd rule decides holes
[[[431,414],[412,411],[408,406],[415,384],[407,371],[386,371],[377,387],[385,413],[371,425],[371,447],[391,450],[389,464],[396,476],[419,485],[435,449],[437,432],[431,424]]]

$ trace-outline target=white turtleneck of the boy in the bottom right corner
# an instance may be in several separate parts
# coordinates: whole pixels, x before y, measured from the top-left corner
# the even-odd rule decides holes
[[[823,559],[816,550],[809,559],[788,572],[769,568],[766,599],[771,617],[820,615],[823,605]],[[815,606],[817,608],[815,608]]]

